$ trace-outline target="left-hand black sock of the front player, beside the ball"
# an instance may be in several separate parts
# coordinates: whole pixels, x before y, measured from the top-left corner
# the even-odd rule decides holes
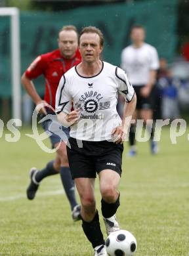
[[[82,220],[82,222],[82,228],[85,233],[85,236],[87,236],[88,240],[93,245],[93,248],[95,248],[98,245],[104,244],[103,234],[100,229],[98,211],[96,211],[96,215],[93,221],[87,223],[86,221]]]

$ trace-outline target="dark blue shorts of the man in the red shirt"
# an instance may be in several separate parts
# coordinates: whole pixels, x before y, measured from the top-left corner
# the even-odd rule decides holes
[[[43,119],[43,120],[42,120]],[[56,119],[56,114],[48,113],[47,116],[41,115],[41,125],[43,129],[49,134],[49,139],[51,140],[52,148],[59,142],[68,142],[70,137],[70,127],[66,128],[62,126]]]

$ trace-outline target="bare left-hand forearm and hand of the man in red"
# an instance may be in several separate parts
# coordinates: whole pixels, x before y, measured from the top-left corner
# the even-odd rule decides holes
[[[35,86],[34,86],[33,82],[31,81],[31,79],[26,77],[25,73],[21,77],[21,82],[22,82],[22,85],[24,86],[24,89],[27,91],[28,95],[30,95],[33,102],[35,102],[36,106],[41,103],[47,103],[47,102],[45,102],[45,100],[42,100],[41,97],[38,95],[37,91],[35,90]],[[40,107],[39,112],[47,115],[45,108]]]

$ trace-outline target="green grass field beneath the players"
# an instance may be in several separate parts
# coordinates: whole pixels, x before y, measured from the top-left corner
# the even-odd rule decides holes
[[[22,130],[16,143],[5,141],[5,133],[0,138],[0,255],[92,256],[81,223],[72,222],[58,175],[43,181],[35,200],[26,199],[28,170],[53,158],[28,132]],[[171,144],[167,128],[159,144],[158,156],[151,156],[148,142],[138,143],[133,159],[125,157],[125,145],[117,219],[137,238],[136,256],[188,256],[188,140],[185,134]],[[96,198],[100,210],[97,180]],[[102,229],[105,235],[103,223]]]

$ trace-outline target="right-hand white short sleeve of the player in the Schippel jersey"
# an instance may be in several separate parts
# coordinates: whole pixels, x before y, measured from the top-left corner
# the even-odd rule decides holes
[[[135,90],[129,82],[127,74],[121,68],[116,68],[116,77],[118,81],[118,92],[124,96],[127,102],[130,102],[135,95]]]

